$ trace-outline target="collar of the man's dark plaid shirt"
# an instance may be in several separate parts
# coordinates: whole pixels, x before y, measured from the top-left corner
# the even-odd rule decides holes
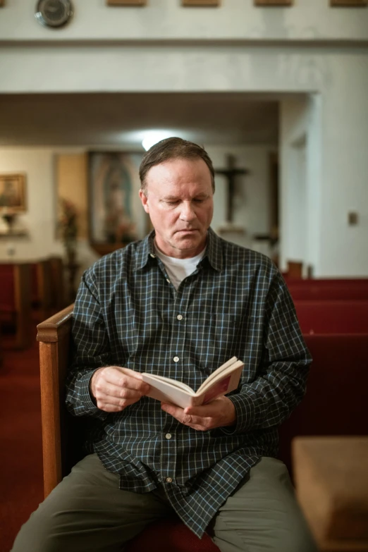
[[[142,269],[149,262],[149,259],[154,259],[156,257],[154,251],[154,235],[155,232],[152,230],[145,238],[137,245],[137,257],[136,257],[136,267],[137,270]],[[221,271],[222,269],[222,245],[221,238],[219,238],[216,233],[209,228],[207,231],[207,247],[204,257],[201,262],[204,262],[204,259],[208,259],[209,264],[216,270]]]

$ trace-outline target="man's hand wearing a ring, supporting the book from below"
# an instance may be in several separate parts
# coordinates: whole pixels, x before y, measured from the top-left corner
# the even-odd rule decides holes
[[[236,422],[235,406],[229,398],[223,395],[203,406],[180,408],[180,406],[170,403],[161,403],[161,409],[182,424],[197,429],[197,431],[232,426]]]

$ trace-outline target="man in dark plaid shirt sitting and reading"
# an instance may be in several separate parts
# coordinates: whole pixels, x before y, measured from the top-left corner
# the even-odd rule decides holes
[[[75,302],[70,412],[97,419],[93,454],[40,505],[13,551],[118,551],[173,512],[222,552],[312,552],[277,427],[305,393],[310,362],[269,259],[211,230],[214,169],[169,138],[140,166],[154,231],[102,257]],[[197,389],[233,355],[239,388],[183,410],[147,398],[141,372]]]

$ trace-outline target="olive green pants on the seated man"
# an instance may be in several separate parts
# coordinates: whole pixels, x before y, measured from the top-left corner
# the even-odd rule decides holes
[[[118,484],[118,475],[107,472],[97,455],[87,456],[32,513],[13,552],[121,552],[147,524],[172,515],[162,488],[139,494]],[[274,458],[252,467],[210,529],[221,552],[317,550],[288,471]]]

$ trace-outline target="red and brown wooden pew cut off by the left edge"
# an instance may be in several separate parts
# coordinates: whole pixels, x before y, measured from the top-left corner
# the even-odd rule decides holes
[[[30,264],[0,263],[0,319],[15,326],[14,346],[25,349],[32,343]]]

